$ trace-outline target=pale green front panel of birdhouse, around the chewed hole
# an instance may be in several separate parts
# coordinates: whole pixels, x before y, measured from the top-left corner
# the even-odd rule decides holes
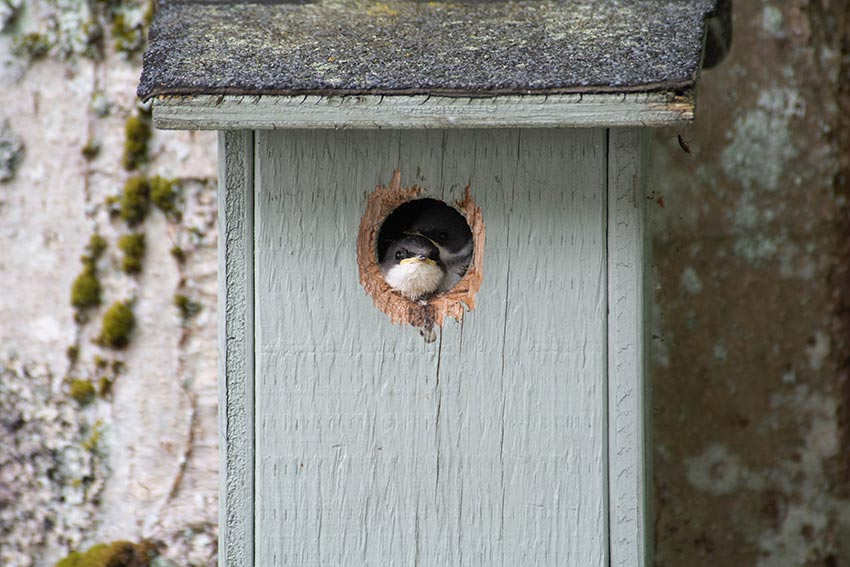
[[[603,130],[257,133],[256,562],[608,561]],[[358,282],[394,169],[487,226],[426,345]]]

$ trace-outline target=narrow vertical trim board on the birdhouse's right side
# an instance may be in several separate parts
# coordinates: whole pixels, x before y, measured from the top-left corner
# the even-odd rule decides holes
[[[652,565],[646,426],[642,132],[608,140],[608,436],[611,565]],[[648,313],[648,309],[646,309]]]

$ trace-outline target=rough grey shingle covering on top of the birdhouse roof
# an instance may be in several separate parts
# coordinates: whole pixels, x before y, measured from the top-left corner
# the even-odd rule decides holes
[[[138,94],[687,91],[714,0],[161,2]]]

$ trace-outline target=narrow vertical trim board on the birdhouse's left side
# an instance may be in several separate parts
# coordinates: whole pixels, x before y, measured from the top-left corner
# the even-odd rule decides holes
[[[254,561],[253,132],[222,132],[219,154],[219,565]]]

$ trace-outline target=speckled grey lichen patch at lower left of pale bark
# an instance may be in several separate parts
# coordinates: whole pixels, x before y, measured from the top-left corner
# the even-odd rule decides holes
[[[0,353],[0,565],[37,565],[48,546],[76,546],[97,522],[106,477],[84,447],[93,424],[44,365]]]

